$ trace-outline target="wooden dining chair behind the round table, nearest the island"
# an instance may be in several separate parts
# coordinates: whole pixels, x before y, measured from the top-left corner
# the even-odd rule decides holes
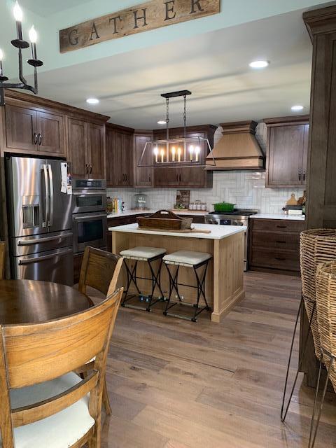
[[[80,268],[78,290],[80,293],[87,294],[87,286],[90,286],[107,297],[117,288],[122,265],[123,257],[102,251],[102,249],[86,246]],[[111,415],[106,382],[103,389],[103,404],[106,414]]]

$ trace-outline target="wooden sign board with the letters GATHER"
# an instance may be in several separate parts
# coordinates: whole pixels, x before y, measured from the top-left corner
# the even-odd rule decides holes
[[[152,0],[59,31],[61,53],[218,14],[221,0]]]

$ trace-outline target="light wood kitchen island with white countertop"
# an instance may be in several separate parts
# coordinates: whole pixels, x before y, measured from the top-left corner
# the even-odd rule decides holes
[[[167,253],[175,251],[197,251],[211,253],[213,256],[206,277],[206,295],[213,309],[211,321],[221,318],[239,300],[244,298],[244,226],[196,224],[195,230],[210,233],[165,232],[161,230],[142,230],[137,224],[120,225],[109,228],[112,232],[113,253],[120,253],[135,246],[165,248]],[[138,276],[148,276],[145,263],[139,263]],[[140,280],[141,292],[148,294],[151,282]],[[167,269],[162,265],[162,290],[169,291]],[[195,284],[192,269],[181,269],[179,283]],[[120,274],[120,286],[126,285],[126,272]],[[181,286],[180,293],[186,302],[195,302],[195,290]]]

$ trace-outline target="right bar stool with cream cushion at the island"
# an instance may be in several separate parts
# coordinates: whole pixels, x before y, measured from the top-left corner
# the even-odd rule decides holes
[[[210,310],[210,307],[207,302],[207,297],[205,296],[205,278],[207,276],[207,269],[209,265],[209,260],[211,260],[212,255],[210,253],[204,252],[194,252],[194,251],[177,251],[173,253],[169,253],[163,257],[163,261],[167,267],[168,275],[169,275],[169,297],[167,300],[165,311],[163,314],[165,316],[173,316],[177,318],[182,318],[187,321],[197,322],[196,316],[202,313],[202,311]],[[173,273],[173,268],[169,269],[169,266],[176,266],[176,271]],[[185,283],[179,283],[179,270],[180,267],[191,267],[195,272],[195,278],[197,286],[188,285]],[[203,267],[203,272],[200,274],[198,269]],[[179,286],[187,286],[188,288],[196,288],[197,289],[197,300],[195,304],[183,303],[181,299],[181,295],[179,293]],[[172,293],[176,291],[176,295],[179,298],[179,302],[172,303]],[[201,296],[204,299],[205,307],[200,308],[200,298]],[[176,304],[183,304],[189,307],[195,307],[195,311],[192,317],[183,316],[181,314],[169,313],[168,310],[172,307],[175,307]]]

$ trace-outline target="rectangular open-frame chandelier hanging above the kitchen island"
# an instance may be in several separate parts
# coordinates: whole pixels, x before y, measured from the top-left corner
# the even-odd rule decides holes
[[[166,99],[166,138],[146,141],[138,167],[206,167],[216,166],[209,140],[204,137],[190,137],[187,134],[186,99],[189,90],[162,93]],[[169,99],[183,97],[183,137],[169,138]],[[206,163],[207,161],[207,163]]]

